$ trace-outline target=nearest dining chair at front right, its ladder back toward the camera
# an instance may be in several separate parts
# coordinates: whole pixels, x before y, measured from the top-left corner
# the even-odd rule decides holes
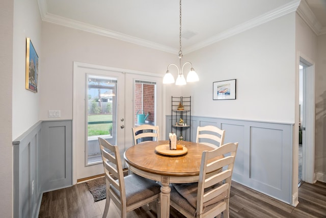
[[[171,186],[170,205],[186,217],[229,217],[229,197],[238,143],[204,151],[199,182]],[[217,156],[224,158],[212,160]],[[213,173],[206,173],[213,172]]]

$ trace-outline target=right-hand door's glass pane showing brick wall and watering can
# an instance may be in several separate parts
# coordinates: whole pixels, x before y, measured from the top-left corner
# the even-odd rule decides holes
[[[135,80],[134,83],[134,126],[143,124],[156,125],[156,83]],[[137,134],[137,133],[136,133]],[[149,141],[152,137],[138,140]],[[141,142],[141,141],[138,141]]]

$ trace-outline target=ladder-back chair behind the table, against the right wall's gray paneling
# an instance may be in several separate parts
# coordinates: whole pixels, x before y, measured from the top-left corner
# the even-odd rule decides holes
[[[197,128],[196,142],[206,144],[212,148],[220,147],[224,143],[225,130],[214,126]]]

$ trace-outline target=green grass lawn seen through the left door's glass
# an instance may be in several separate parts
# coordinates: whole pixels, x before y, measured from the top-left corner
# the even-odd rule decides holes
[[[112,121],[112,114],[88,115],[88,122]],[[108,127],[112,124],[91,124],[88,125],[88,136],[108,135]]]

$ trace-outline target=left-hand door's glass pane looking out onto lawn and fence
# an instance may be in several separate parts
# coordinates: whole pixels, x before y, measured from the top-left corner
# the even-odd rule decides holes
[[[116,144],[117,79],[88,75],[86,165],[101,163],[98,137]]]

